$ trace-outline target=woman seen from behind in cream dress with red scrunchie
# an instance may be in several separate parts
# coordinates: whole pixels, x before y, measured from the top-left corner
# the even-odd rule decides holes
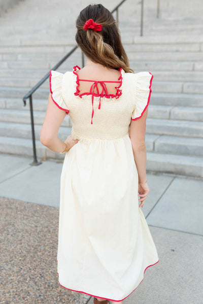
[[[145,130],[153,75],[130,69],[115,19],[104,6],[86,7],[76,25],[87,62],[65,74],[50,71],[40,137],[52,151],[65,153],[59,284],[94,296],[94,304],[122,303],[158,262],[140,208],[149,193]],[[66,114],[72,134],[61,142],[57,132]]]

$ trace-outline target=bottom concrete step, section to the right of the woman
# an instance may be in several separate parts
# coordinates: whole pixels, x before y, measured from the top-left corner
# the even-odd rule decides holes
[[[203,158],[147,152],[147,170],[184,176],[203,177]]]

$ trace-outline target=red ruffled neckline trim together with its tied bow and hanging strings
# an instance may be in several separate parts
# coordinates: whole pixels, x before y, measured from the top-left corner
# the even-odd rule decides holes
[[[106,97],[106,98],[111,98],[111,97],[115,97],[116,99],[120,97],[120,95],[122,94],[122,90],[120,89],[121,85],[122,85],[122,74],[121,74],[121,71],[122,71],[122,67],[119,68],[119,72],[120,72],[120,76],[118,78],[118,80],[120,81],[116,81],[116,82],[120,82],[119,86],[115,86],[115,89],[116,89],[116,94],[108,94],[107,92],[107,87],[106,87],[106,84],[105,82],[114,82],[114,81],[94,81],[94,83],[91,85],[91,88],[90,88],[90,92],[85,92],[85,93],[82,93],[80,94],[80,90],[79,90],[79,77],[78,77],[78,74],[76,73],[77,69],[80,70],[80,66],[76,65],[73,67],[73,73],[76,75],[77,79],[76,79],[76,92],[74,93],[74,95],[76,96],[79,96],[80,98],[82,98],[83,95],[92,95],[92,118],[91,118],[91,124],[92,124],[92,119],[93,119],[93,116],[94,116],[94,96],[95,97],[100,97],[99,98],[99,105],[98,105],[98,109],[100,109],[100,106],[101,106],[101,97]],[[82,79],[82,81],[85,81],[84,79]],[[93,80],[86,80],[86,81],[92,81]],[[100,86],[102,87],[102,91],[101,93],[99,94],[98,92],[98,87],[97,87],[97,84],[100,84]],[[94,93],[94,90],[96,89],[96,93]],[[104,93],[105,92],[105,93]]]

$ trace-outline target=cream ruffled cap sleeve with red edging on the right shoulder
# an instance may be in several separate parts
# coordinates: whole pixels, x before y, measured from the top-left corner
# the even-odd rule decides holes
[[[134,91],[134,110],[132,112],[132,120],[137,120],[143,116],[147,109],[151,97],[151,86],[153,75],[150,72],[140,72],[136,75],[136,88]]]

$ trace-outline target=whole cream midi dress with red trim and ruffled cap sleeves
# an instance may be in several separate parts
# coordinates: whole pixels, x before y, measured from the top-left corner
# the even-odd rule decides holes
[[[93,77],[91,90],[80,94],[78,69],[50,71],[52,100],[70,115],[73,138],[80,140],[65,153],[60,178],[58,282],[121,301],[159,261],[139,207],[129,138],[131,119],[139,119],[149,105],[153,75],[119,69],[115,95],[108,94],[105,80]]]

